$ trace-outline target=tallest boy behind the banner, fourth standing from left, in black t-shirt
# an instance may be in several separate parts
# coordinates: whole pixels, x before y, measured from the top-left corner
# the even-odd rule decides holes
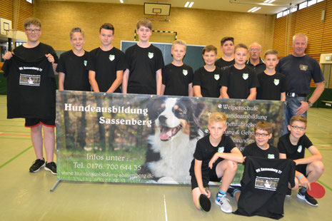
[[[141,19],[136,24],[139,43],[126,50],[126,71],[122,81],[122,93],[161,95],[164,58],[161,50],[149,42],[152,24]]]

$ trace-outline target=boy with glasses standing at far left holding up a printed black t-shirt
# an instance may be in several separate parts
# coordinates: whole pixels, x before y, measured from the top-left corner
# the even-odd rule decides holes
[[[37,159],[29,171],[34,173],[45,166],[45,170],[56,175],[56,163],[54,163],[56,83],[54,73],[59,58],[51,46],[39,41],[41,36],[39,19],[26,19],[24,32],[28,41],[15,48],[13,52],[7,52],[4,56],[5,60],[11,59],[11,63],[6,62],[2,68],[10,86],[7,95],[7,118],[25,118],[26,128],[31,128],[31,141]],[[47,60],[44,60],[45,57]],[[19,68],[18,73],[16,68]],[[44,130],[44,139],[41,130]],[[43,140],[46,162],[43,157]]]

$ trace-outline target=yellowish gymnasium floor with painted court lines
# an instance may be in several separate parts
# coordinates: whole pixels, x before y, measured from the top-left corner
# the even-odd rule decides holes
[[[307,133],[321,151],[325,172],[319,181],[326,195],[311,207],[286,197],[286,220],[331,220],[332,205],[332,109],[311,108]],[[35,159],[30,130],[23,119],[6,119],[6,96],[0,96],[0,220],[267,220],[225,214],[214,204],[210,212],[195,209],[189,186],[124,185],[62,182],[49,190],[56,176],[40,170],[29,173]],[[210,188],[213,199],[218,187]],[[233,211],[235,200],[231,200]]]

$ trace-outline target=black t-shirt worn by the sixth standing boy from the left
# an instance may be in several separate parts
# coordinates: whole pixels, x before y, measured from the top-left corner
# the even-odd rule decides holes
[[[203,67],[198,68],[193,74],[193,86],[201,86],[203,97],[218,98],[220,96],[219,81],[222,71],[216,67],[214,71],[206,71]]]

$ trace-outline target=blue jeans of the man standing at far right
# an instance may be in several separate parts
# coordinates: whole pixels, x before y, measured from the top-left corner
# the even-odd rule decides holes
[[[286,106],[285,124],[283,125],[283,134],[288,133],[287,125],[289,124],[289,120],[291,120],[291,117],[293,117],[293,115],[296,115],[296,109],[301,106],[301,101],[307,101],[307,98],[305,97],[291,98],[286,96],[287,106]],[[307,118],[306,113],[303,113],[301,115]]]

